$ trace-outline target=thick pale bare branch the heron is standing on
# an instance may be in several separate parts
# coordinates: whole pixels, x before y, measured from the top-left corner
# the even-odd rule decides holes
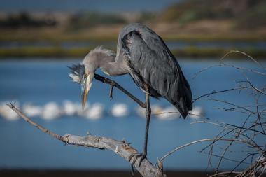
[[[84,146],[86,148],[98,148],[102,150],[111,150],[117,155],[120,155],[121,157],[123,157],[128,162],[130,162],[129,161],[130,155],[134,153],[138,153],[136,149],[130,146],[130,143],[126,143],[125,141],[118,141],[118,140],[111,139],[108,137],[92,136],[90,134],[87,136],[76,136],[76,135],[71,135],[71,134],[65,134],[64,136],[60,136],[58,134],[51,132],[49,129],[42,127],[41,125],[38,125],[36,122],[32,121],[31,119],[29,119],[24,113],[22,113],[13,104],[7,104],[7,106],[11,108],[13,111],[15,111],[15,113],[18,113],[18,115],[20,115],[20,117],[23,118],[29,124],[40,129],[45,134],[48,134],[52,136],[53,138],[66,143],[66,145],[70,144],[70,145],[75,145],[75,146]],[[162,170],[154,167],[153,164],[151,164],[151,162],[149,162],[147,159],[143,160],[140,167],[137,164],[139,163],[138,162],[135,163],[134,167],[137,169],[137,171],[139,171],[139,173],[142,176],[145,176],[145,177],[166,176],[165,174],[162,173]]]

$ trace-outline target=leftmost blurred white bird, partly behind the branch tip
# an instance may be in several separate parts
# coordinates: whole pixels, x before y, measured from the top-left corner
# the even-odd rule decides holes
[[[0,115],[6,120],[18,120],[20,118],[18,114],[6,105],[10,102],[12,101],[3,101],[0,103]],[[20,104],[18,102],[15,103],[15,106],[20,108]]]

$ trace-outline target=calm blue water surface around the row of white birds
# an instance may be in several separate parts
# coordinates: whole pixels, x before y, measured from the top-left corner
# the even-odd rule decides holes
[[[0,101],[18,100],[20,104],[31,102],[43,105],[48,101],[58,104],[65,99],[80,101],[80,86],[69,79],[67,73],[72,63],[77,60],[59,61],[56,59],[44,60],[16,60],[10,59],[0,62]],[[213,90],[223,90],[235,87],[236,80],[245,80],[243,73],[228,67],[216,67],[202,72],[197,78],[193,76],[204,67],[218,64],[216,60],[181,59],[183,72],[193,90],[193,97],[198,97]],[[236,66],[258,69],[253,62],[230,61]],[[262,62],[262,64],[266,64]],[[261,71],[261,69],[258,69]],[[97,73],[102,74],[100,71]],[[265,85],[265,76],[255,73],[246,73],[253,84],[260,87]],[[114,78],[120,85],[144,100],[141,92],[129,76]],[[114,89],[113,100],[109,100],[109,86],[94,80],[88,95],[90,103],[100,102],[108,110],[115,103],[125,103],[131,110],[137,105],[120,91]],[[254,100],[247,92],[230,92],[213,96],[217,99],[231,101],[241,106],[254,104]],[[262,101],[263,102],[263,101]],[[265,100],[264,100],[265,102]],[[152,99],[151,104],[169,106],[165,99]],[[202,99],[195,102],[201,106],[206,116],[211,120],[241,124],[243,115],[218,110],[215,101]],[[224,106],[225,107],[225,106]],[[246,115],[245,115],[246,116]],[[97,136],[109,136],[113,139],[126,139],[132,146],[141,151],[144,142],[145,120],[130,114],[127,118],[112,118],[110,115],[100,120],[85,120],[75,116],[45,121],[34,118],[36,122],[56,132],[57,134],[85,135],[87,131]],[[214,125],[191,124],[193,119],[151,120],[148,142],[148,159],[156,162],[177,146],[197,139],[212,138],[221,131]],[[64,146],[62,142],[50,138],[35,127],[23,120],[8,121],[0,118],[0,169],[130,169],[130,164],[108,150],[87,149],[76,146]],[[265,139],[258,138],[258,142]],[[165,169],[201,169],[207,168],[207,155],[199,151],[207,145],[201,143],[180,150],[169,156],[165,162]],[[232,146],[232,151],[242,146]],[[230,157],[241,159],[244,153],[232,153]],[[217,160],[214,159],[214,164]],[[222,163],[223,169],[232,168],[235,163]]]

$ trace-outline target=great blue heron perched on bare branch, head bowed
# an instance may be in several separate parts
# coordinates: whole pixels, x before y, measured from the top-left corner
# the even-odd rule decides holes
[[[129,73],[146,95],[146,132],[144,150],[134,155],[139,165],[146,158],[148,127],[151,118],[149,97],[165,97],[186,118],[192,110],[192,94],[181,67],[165,42],[144,24],[128,24],[118,36],[116,55],[102,47],[91,50],[81,64],[70,67],[69,76],[82,85],[82,105],[85,106],[94,78],[94,72],[102,69],[109,76]],[[132,157],[130,157],[131,160]],[[134,164],[133,162],[133,164]]]

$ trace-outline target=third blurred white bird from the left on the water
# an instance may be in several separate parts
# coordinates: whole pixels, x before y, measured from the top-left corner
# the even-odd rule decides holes
[[[61,115],[62,111],[60,110],[59,106],[54,101],[52,101],[44,105],[41,117],[45,120],[52,120],[59,118],[59,116]]]

